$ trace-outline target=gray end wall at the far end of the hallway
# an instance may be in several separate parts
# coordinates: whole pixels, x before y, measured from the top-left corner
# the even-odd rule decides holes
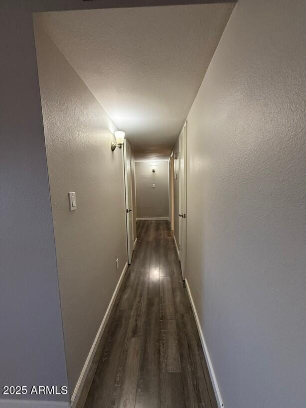
[[[152,172],[153,163],[156,164],[155,173]],[[135,167],[137,218],[168,217],[168,162],[136,161]]]

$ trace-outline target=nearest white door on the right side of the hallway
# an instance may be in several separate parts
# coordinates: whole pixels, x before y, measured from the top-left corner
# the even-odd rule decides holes
[[[186,170],[187,122],[179,135],[179,260],[183,278],[186,272]]]

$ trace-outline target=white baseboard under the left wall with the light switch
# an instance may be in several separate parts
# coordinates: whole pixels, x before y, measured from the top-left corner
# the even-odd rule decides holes
[[[106,325],[106,323],[108,321],[108,318],[110,316],[110,313],[112,311],[116,296],[118,294],[118,290],[119,290],[120,285],[122,283],[122,279],[123,279],[127,269],[128,269],[128,263],[126,263],[126,265],[123,268],[123,271],[122,271],[121,276],[120,276],[120,278],[118,280],[117,286],[116,286],[116,288],[114,290],[113,296],[111,298],[111,301],[110,301],[110,303],[108,305],[108,308],[107,308],[107,310],[105,312],[102,323],[101,323],[101,325],[99,327],[96,338],[95,338],[95,340],[94,340],[94,342],[93,342],[93,344],[91,346],[91,349],[90,349],[90,351],[88,353],[88,356],[87,356],[87,359],[85,361],[84,367],[83,367],[83,369],[81,371],[80,377],[79,377],[78,382],[77,382],[77,384],[75,386],[74,392],[73,392],[72,397],[71,397],[71,408],[75,408],[77,403],[78,403],[78,400],[80,398],[80,395],[81,395],[81,392],[82,392],[82,389],[83,389],[83,386],[84,386],[88,371],[90,369],[90,366],[91,366],[91,363],[93,361],[95,352],[97,350],[97,347],[99,345],[99,342],[100,342],[102,334],[103,334],[103,331],[105,329],[105,325]]]

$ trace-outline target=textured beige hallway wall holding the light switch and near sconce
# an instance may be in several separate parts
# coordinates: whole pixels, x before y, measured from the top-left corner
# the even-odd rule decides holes
[[[72,393],[127,262],[123,150],[111,151],[115,125],[38,23],[35,38]]]

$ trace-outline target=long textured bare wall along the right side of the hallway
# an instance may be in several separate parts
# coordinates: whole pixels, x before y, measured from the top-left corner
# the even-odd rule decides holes
[[[305,21],[238,1],[187,118],[187,279],[226,408],[305,406]]]

